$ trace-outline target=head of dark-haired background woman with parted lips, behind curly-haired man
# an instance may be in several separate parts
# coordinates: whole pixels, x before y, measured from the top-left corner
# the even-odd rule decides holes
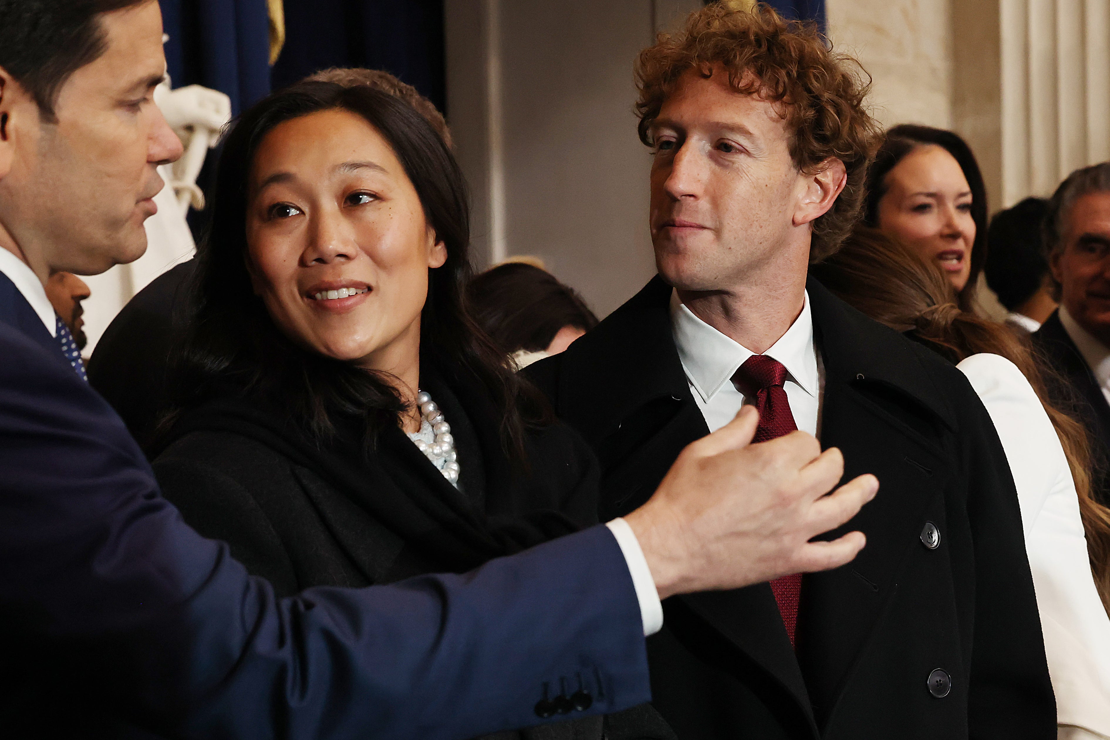
[[[987,260],[987,187],[951,131],[896,125],[867,173],[864,222],[936,264],[970,311]]]

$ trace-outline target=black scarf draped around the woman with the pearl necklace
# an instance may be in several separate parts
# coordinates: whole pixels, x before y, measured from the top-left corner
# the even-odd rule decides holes
[[[317,445],[280,403],[230,389],[184,413],[160,446],[202,429],[262,443],[329,481],[436,570],[471,570],[592,524],[554,510],[522,510],[528,475],[502,448],[501,414],[488,392],[477,378],[454,373],[447,377],[423,366],[421,385],[452,425],[463,490],[396,426],[389,425],[367,454],[361,423],[337,418],[333,440]],[[529,447],[526,442],[525,449]]]

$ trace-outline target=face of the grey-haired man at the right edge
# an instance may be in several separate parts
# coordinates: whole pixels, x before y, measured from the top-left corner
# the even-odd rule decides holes
[[[1063,249],[1050,259],[1061,300],[1076,322],[1110,345],[1110,193],[1088,193],[1063,222]]]

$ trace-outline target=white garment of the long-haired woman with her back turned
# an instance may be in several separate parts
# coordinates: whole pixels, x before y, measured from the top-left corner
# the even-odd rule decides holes
[[[1110,618],[1094,588],[1079,498],[1032,386],[1005,357],[958,367],[990,414],[1013,474],[1061,738],[1110,736]],[[1079,734],[1076,728],[1097,734]]]

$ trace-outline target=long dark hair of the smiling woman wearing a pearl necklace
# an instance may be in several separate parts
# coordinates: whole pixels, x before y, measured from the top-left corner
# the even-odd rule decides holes
[[[196,253],[194,315],[176,363],[175,412],[226,393],[261,393],[287,409],[315,444],[335,434],[335,416],[364,419],[372,446],[386,425],[407,410],[381,373],[306,351],[274,325],[251,290],[246,260],[248,181],[265,135],[285,121],[319,111],[344,110],[363,118],[389,142],[412,181],[428,224],[446,245],[447,259],[430,271],[421,314],[421,367],[445,379],[476,377],[502,414],[506,453],[523,462],[524,420],[543,424],[549,410],[513,372],[508,358],[471,317],[464,287],[470,263],[466,185],[443,140],[416,111],[386,93],[330,82],[301,82],[253,105],[224,139],[215,175],[212,216]]]

